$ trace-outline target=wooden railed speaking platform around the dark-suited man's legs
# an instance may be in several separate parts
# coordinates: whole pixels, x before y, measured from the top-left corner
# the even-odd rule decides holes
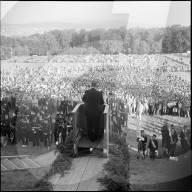
[[[91,142],[87,132],[87,117],[85,116],[84,103],[77,104],[72,111],[73,116],[73,145],[74,153],[78,156],[80,148],[93,148],[103,151],[108,157],[109,152],[109,105],[103,105],[103,115],[100,119],[98,140]]]

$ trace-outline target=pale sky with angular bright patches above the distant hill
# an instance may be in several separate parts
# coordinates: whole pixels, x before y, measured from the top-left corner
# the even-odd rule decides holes
[[[189,26],[190,4],[190,1],[1,1],[1,22],[101,22],[115,18],[115,13],[124,13],[127,25]]]

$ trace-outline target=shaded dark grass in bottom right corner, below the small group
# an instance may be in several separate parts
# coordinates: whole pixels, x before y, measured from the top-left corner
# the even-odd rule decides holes
[[[134,190],[184,191],[191,188],[191,152],[177,162],[168,159],[137,160],[131,152],[130,184]]]

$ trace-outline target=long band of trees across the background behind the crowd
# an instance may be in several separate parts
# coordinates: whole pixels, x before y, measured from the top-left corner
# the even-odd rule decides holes
[[[1,58],[57,54],[155,54],[190,50],[190,27],[127,30],[53,30],[23,37],[1,36]]]

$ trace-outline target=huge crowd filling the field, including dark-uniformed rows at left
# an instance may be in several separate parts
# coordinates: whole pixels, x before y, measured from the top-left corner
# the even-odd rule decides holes
[[[114,62],[109,59],[106,63],[107,57]],[[33,68],[22,67],[19,59],[13,61],[9,70],[1,71],[1,135],[8,135],[11,144],[22,141],[24,147],[30,141],[33,146],[40,142],[49,146],[58,141],[61,132],[65,140],[72,126],[71,111],[93,79],[99,82],[105,101],[111,98],[115,105],[122,103],[128,114],[190,117],[190,82],[158,71],[159,57],[97,55],[91,64],[93,56],[87,56],[88,63],[82,56],[63,60],[57,56],[64,63]]]

